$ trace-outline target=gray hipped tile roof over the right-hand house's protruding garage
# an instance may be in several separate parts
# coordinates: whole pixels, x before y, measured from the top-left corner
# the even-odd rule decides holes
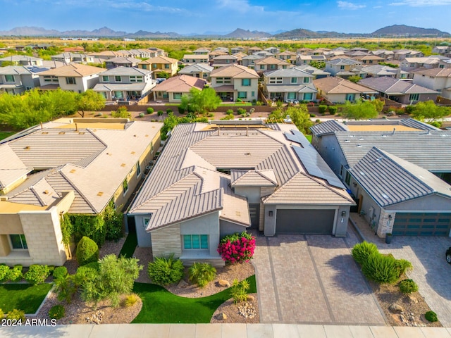
[[[451,197],[451,186],[439,177],[376,147],[350,173],[382,207],[431,194]]]

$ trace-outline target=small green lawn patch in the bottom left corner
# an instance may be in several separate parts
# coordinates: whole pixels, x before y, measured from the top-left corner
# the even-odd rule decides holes
[[[1,284],[0,308],[4,313],[17,308],[25,313],[35,313],[52,284]]]

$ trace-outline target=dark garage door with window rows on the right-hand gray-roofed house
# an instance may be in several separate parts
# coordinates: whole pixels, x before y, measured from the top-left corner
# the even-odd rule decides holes
[[[449,236],[451,213],[396,213],[392,233],[398,236]]]

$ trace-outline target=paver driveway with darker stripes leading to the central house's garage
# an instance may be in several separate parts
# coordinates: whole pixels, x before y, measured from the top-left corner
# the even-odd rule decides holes
[[[256,238],[261,323],[385,325],[351,253],[357,237],[278,235]],[[451,267],[449,267],[451,269]]]

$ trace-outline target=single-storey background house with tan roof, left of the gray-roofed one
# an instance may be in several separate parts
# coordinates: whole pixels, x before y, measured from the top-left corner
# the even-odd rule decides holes
[[[318,89],[318,94],[333,104],[342,104],[345,101],[354,102],[377,94],[373,89],[341,77],[323,77],[313,80],[313,83]]]

